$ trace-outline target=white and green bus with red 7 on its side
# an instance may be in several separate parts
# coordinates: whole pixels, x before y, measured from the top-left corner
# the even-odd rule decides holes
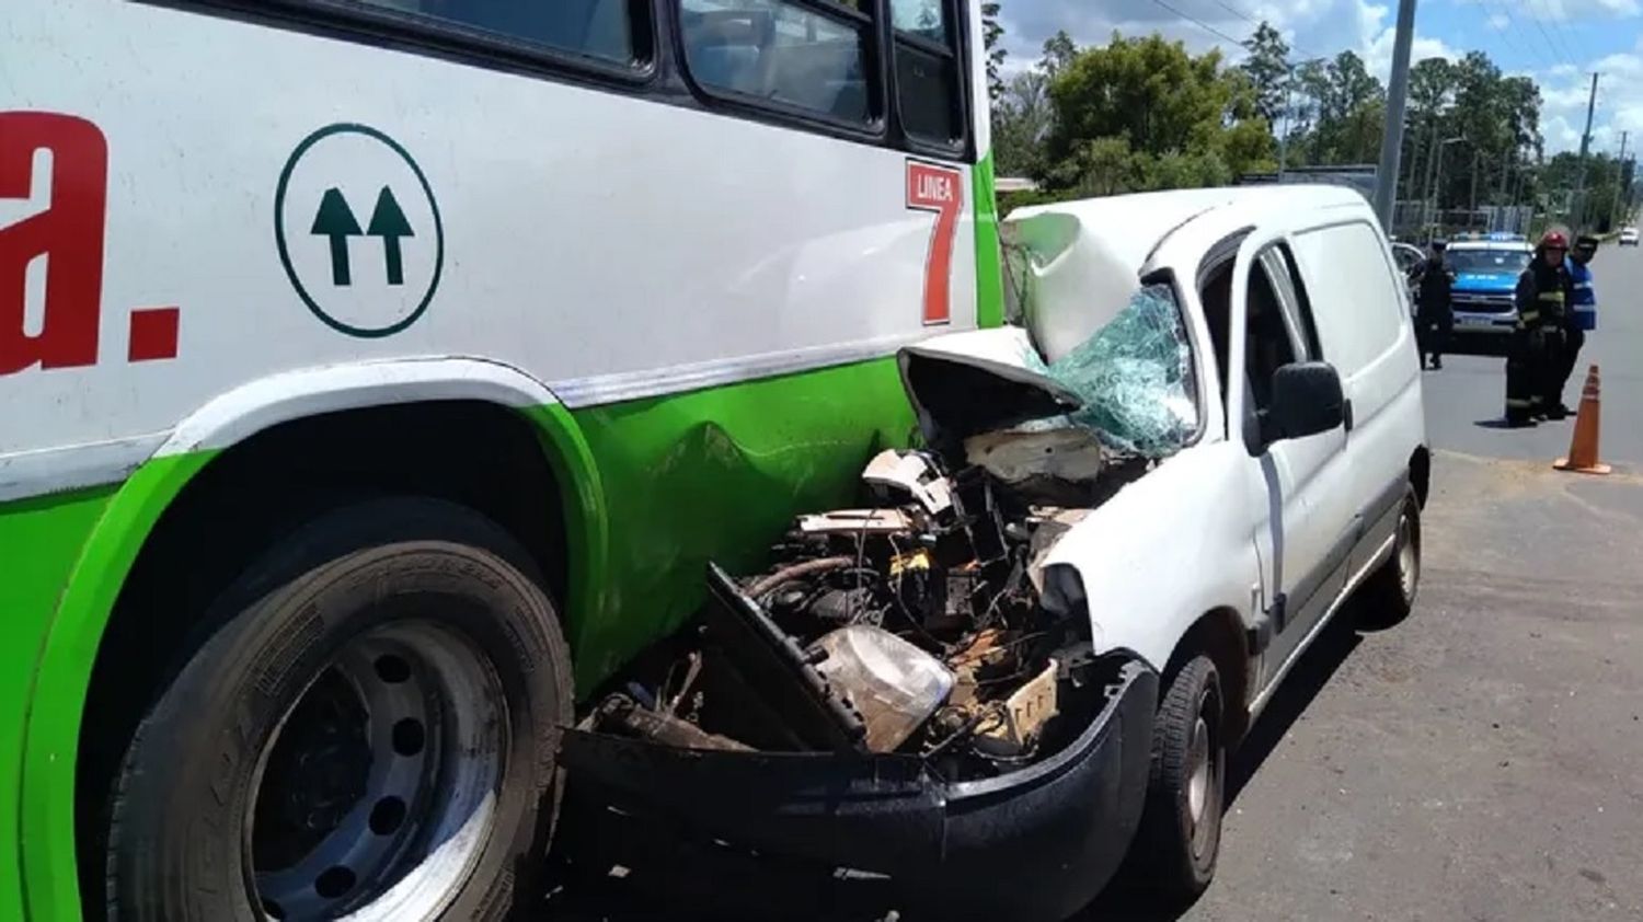
[[[0,919],[495,919],[1002,316],[974,0],[0,3]]]

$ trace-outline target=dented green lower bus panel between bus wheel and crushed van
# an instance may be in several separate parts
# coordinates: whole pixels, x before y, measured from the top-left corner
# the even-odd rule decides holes
[[[795,513],[859,503],[868,459],[915,429],[891,358],[575,416],[611,536],[601,608],[573,625],[583,694],[697,610],[708,560],[762,565]]]

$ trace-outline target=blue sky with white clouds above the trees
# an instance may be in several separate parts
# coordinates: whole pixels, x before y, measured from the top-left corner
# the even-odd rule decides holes
[[[1185,16],[1232,38],[1254,30],[1249,20],[1265,18],[1283,31],[1295,58],[1352,49],[1385,79],[1397,0],[1001,0],[1010,53],[1006,69],[1030,66],[1058,28],[1078,44],[1101,44],[1112,30],[1160,31],[1193,51],[1222,48],[1234,58],[1242,54]],[[1416,59],[1459,58],[1472,49],[1539,84],[1548,153],[1579,146],[1594,71],[1602,74],[1594,150],[1615,153],[1622,130],[1631,131],[1631,141],[1643,141],[1643,0],[1420,0]]]

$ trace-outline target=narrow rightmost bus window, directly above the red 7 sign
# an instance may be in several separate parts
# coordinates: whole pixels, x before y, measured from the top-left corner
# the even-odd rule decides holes
[[[964,136],[958,53],[946,0],[891,0],[902,128],[922,141]]]

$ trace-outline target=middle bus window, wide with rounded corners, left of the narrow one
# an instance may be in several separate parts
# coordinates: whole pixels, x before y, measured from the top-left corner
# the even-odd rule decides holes
[[[868,26],[856,5],[680,0],[698,84],[853,123],[872,120]],[[828,8],[828,13],[822,10]]]

